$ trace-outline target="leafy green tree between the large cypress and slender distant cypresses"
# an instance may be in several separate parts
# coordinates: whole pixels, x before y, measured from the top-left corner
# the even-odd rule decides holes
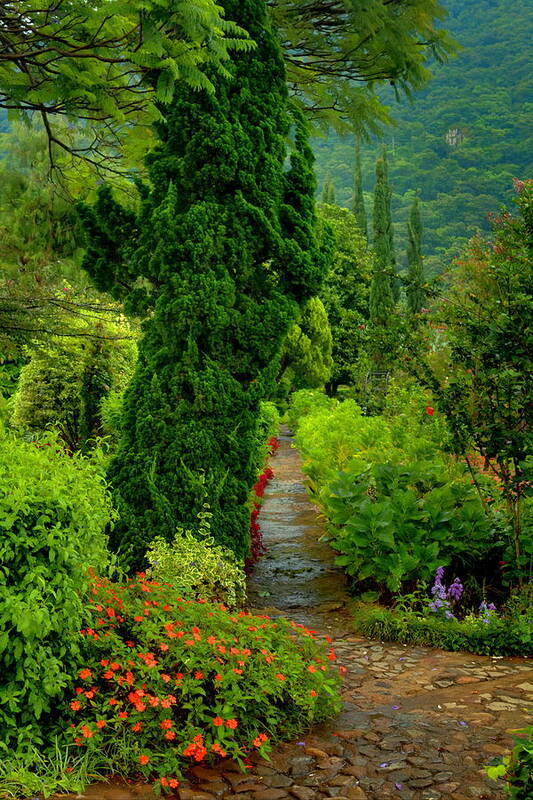
[[[320,220],[333,235],[333,259],[321,291],[333,337],[330,385],[353,383],[368,322],[374,256],[354,215],[345,208],[321,206]]]

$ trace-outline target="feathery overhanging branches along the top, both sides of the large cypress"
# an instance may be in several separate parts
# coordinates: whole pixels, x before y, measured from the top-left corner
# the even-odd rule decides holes
[[[377,130],[388,113],[374,85],[410,93],[428,59],[453,51],[438,0],[270,0],[288,82],[302,108],[326,127]],[[229,15],[228,15],[229,16]],[[133,124],[159,116],[174,86],[212,91],[233,51],[253,47],[216,0],[35,0],[0,8],[0,108],[46,128],[54,145],[110,167]],[[54,116],[80,121],[73,148]]]

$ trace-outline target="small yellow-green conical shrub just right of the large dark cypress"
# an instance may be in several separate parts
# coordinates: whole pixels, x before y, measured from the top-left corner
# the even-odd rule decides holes
[[[304,305],[283,345],[280,383],[287,390],[321,389],[329,381],[333,360],[328,315],[322,300],[312,297]]]

